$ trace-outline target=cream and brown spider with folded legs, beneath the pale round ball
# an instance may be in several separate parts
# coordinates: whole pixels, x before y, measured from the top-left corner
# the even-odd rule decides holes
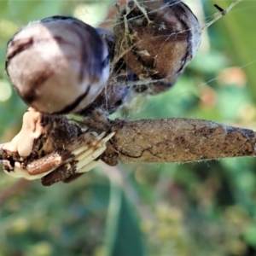
[[[28,180],[42,178],[45,185],[69,182],[102,163],[99,156],[114,135],[86,130],[65,115],[53,118],[29,108],[20,132],[0,145],[3,171]]]

